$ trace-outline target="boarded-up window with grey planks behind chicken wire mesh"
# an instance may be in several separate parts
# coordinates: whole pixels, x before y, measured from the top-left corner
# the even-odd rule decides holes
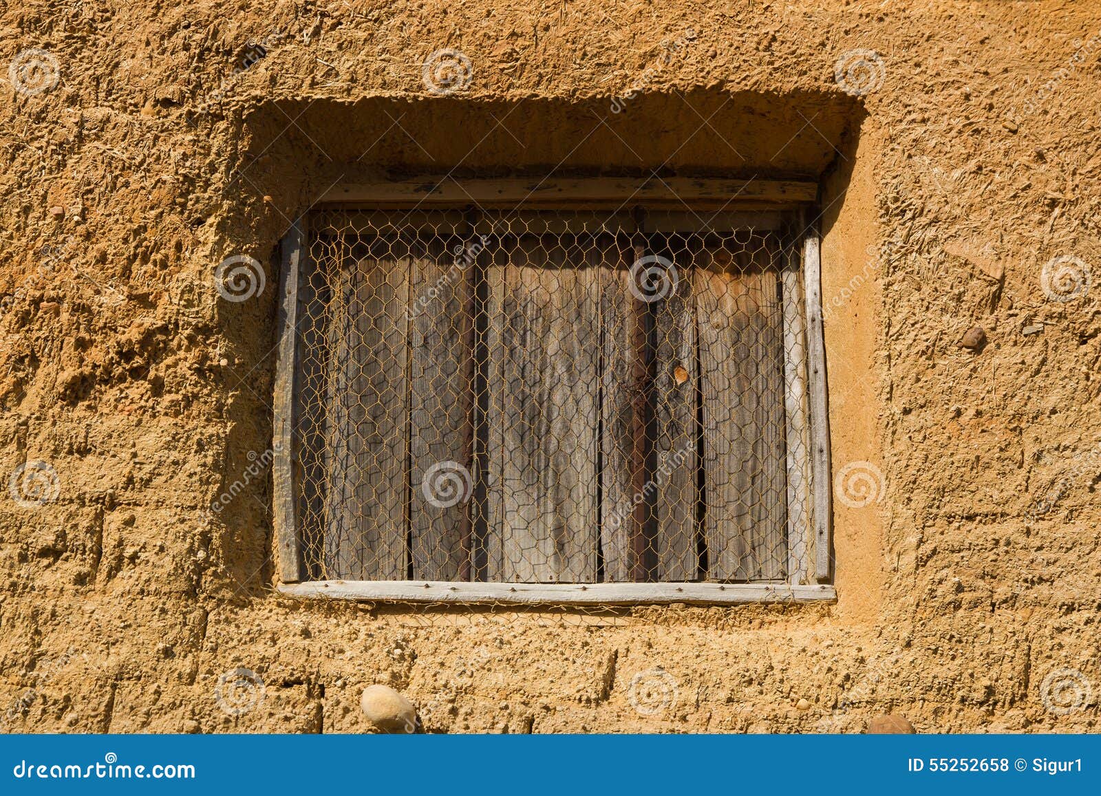
[[[775,196],[731,209],[729,185],[697,181],[686,207],[607,183],[512,207],[515,181],[450,200],[374,187],[292,231],[284,581],[395,599],[832,593],[799,215]]]

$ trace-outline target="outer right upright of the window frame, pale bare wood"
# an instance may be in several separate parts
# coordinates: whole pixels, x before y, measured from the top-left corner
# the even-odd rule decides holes
[[[815,577],[830,577],[829,404],[826,396],[826,340],[822,330],[821,260],[818,229],[806,226],[803,269],[807,302],[807,390],[810,405],[810,489],[814,505]]]

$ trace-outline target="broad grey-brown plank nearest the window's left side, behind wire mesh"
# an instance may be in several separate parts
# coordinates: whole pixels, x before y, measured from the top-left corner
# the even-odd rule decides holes
[[[325,569],[404,579],[408,423],[408,252],[353,248],[329,305],[329,490]]]

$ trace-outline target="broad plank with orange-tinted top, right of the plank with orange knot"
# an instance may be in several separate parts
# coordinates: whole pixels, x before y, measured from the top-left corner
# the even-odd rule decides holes
[[[708,576],[782,577],[782,310],[761,238],[701,258],[699,329]],[[759,254],[754,254],[759,252]]]

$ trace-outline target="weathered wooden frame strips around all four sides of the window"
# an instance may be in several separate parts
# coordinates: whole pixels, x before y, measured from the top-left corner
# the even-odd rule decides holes
[[[804,229],[802,275],[805,302],[806,417],[808,429],[807,497],[810,519],[807,538],[814,555],[810,571],[795,570],[791,580],[810,582],[596,582],[519,584],[419,580],[307,580],[295,522],[292,429],[297,425],[295,380],[297,364],[298,277],[307,247],[306,219],[295,221],[282,239],[276,318],[273,412],[273,524],[277,548],[277,588],[299,597],[396,602],[458,602],[493,604],[553,603],[614,606],[693,602],[803,602],[836,599],[831,582],[831,486],[822,334],[821,263],[817,214],[813,211],[817,185],[798,181],[735,181],[697,178],[577,178],[557,181],[469,179],[425,177],[415,181],[330,188],[316,204],[336,208],[439,209],[476,205],[516,209],[617,209],[624,204],[694,211],[781,210],[798,214]],[[624,198],[630,197],[626,203]],[[795,272],[798,274],[798,272]],[[787,329],[785,327],[785,334]],[[785,402],[800,401],[800,393],[785,379]],[[789,410],[788,410],[789,411]],[[788,464],[791,469],[791,462]]]

